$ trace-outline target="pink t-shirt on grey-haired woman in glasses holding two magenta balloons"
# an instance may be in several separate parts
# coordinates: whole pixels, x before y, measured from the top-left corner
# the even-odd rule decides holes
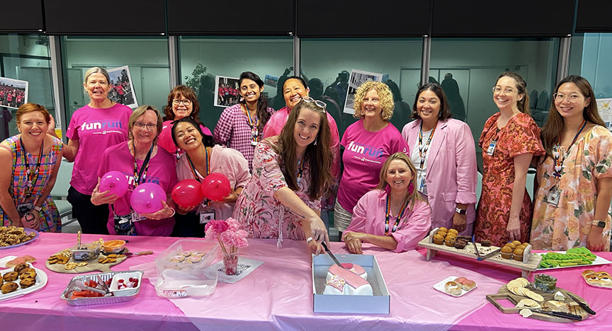
[[[157,149],[157,153],[149,160],[149,168],[145,175],[144,182],[154,182],[161,186],[167,194],[172,192],[176,185],[176,171],[174,171],[174,156],[164,149]],[[138,169],[142,168],[142,160],[137,161]],[[108,171],[116,170],[125,174],[128,177],[130,186],[128,192],[123,197],[120,197],[113,206],[117,215],[128,215],[131,213],[130,197],[135,188],[134,181],[134,156],[130,153],[127,143],[120,143],[115,146],[108,147],[102,155],[100,167],[98,168],[98,177],[102,177]],[[108,215],[108,223],[106,227],[109,233],[115,234],[115,220],[113,209],[108,206],[111,211]],[[135,222],[136,233],[139,236],[170,236],[172,228],[174,228],[174,218],[170,219],[145,219]]]

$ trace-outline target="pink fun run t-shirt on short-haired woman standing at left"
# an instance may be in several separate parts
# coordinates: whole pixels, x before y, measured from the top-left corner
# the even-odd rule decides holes
[[[132,110],[116,103],[111,108],[91,108],[86,105],[72,115],[66,137],[79,141],[79,152],[74,158],[70,185],[81,194],[91,194],[98,184],[95,169],[100,152],[128,140],[128,122]],[[94,171],[92,171],[94,170]]]

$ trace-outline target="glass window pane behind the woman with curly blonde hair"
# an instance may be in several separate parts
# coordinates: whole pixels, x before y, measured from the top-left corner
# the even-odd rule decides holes
[[[382,80],[393,86],[392,124],[401,131],[409,122],[414,94],[421,81],[421,38],[303,38],[301,41],[302,77],[320,80],[322,88],[318,92],[310,86],[311,96],[319,98],[323,93],[328,103],[331,99],[339,105],[339,110],[334,111],[329,105],[328,110],[338,124],[340,137],[355,122],[353,115],[343,111],[348,91],[347,73],[353,70],[382,74]],[[352,108],[352,98],[348,99],[347,108]]]

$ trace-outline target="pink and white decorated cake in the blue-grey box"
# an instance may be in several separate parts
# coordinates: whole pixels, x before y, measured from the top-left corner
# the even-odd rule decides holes
[[[360,265],[343,263],[329,267],[323,294],[344,294],[353,296],[372,296],[372,286],[366,280],[368,274]]]

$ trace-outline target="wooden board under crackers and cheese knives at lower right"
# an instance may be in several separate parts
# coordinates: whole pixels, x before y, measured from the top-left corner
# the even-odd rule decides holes
[[[573,296],[575,296],[578,300],[582,301],[583,303],[587,303],[587,301],[584,300],[584,298],[581,298],[577,294],[574,294],[574,293],[572,293],[570,291],[567,291],[565,289],[561,289],[560,287],[557,287],[557,289],[555,289],[555,291],[553,291],[553,293],[545,293],[543,291],[535,289],[533,286],[531,286],[531,284],[529,286],[527,286],[527,287],[528,287],[528,289],[531,289],[531,291],[534,291],[537,294],[540,294],[541,296],[544,297],[544,301],[538,302],[540,304],[540,306],[544,307],[544,303],[546,301],[555,300],[555,293],[557,293],[557,291],[560,291],[565,296],[565,301],[564,302],[567,304],[567,306],[569,306],[570,313],[572,313],[574,315],[581,315],[582,316],[582,320],[586,320],[587,318],[589,318],[589,313],[584,311],[584,309],[582,309],[582,307],[580,307],[576,301],[572,300],[572,298],[570,298],[570,296],[567,295],[567,293],[570,293]],[[498,300],[508,300],[511,303],[513,303],[514,306],[516,306],[516,304],[519,303],[519,301],[521,301],[521,299],[523,299],[523,298],[528,298],[528,297],[526,297],[526,296],[518,296],[518,295],[516,295],[514,293],[511,293],[506,288],[506,285],[502,286],[499,289],[499,292],[497,294],[487,294],[487,301],[489,301],[489,303],[492,303],[492,305],[495,306],[495,308],[499,309],[499,311],[501,311],[504,314],[518,314],[523,308],[526,308],[526,307],[523,307],[523,308],[504,307],[499,302],[497,302]],[[540,310],[554,311],[554,310],[551,310],[549,308],[540,308]],[[538,313],[536,311],[533,311],[533,315],[529,316],[528,318],[533,318],[533,319],[536,319],[536,320],[545,320],[545,321],[548,321],[548,322],[555,322],[555,323],[580,322],[579,320],[570,320],[569,318],[558,318],[558,317],[551,316],[551,315],[540,314],[540,313]]]

